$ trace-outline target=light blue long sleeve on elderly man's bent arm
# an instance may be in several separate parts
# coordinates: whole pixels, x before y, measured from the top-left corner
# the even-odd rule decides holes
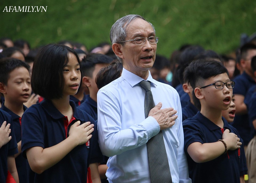
[[[98,136],[102,153],[108,157],[132,150],[158,134],[158,122],[149,116],[143,121],[134,122],[134,125],[122,129],[122,112],[115,96],[107,91],[99,91],[98,103]],[[136,107],[136,106],[134,106]]]

